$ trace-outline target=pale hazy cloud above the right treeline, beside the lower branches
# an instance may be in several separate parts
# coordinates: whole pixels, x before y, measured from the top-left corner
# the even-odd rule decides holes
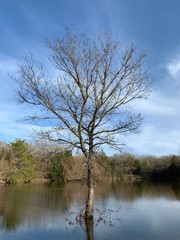
[[[150,155],[179,154],[179,106],[180,96],[174,98],[173,95],[164,95],[160,91],[154,91],[148,100],[137,104],[135,110],[145,118],[140,134],[128,136],[126,143],[131,151]]]

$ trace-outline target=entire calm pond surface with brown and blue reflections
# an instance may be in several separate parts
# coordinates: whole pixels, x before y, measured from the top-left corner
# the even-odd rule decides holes
[[[76,221],[85,200],[78,183],[0,186],[0,239],[180,239],[180,186],[97,183],[88,237]]]

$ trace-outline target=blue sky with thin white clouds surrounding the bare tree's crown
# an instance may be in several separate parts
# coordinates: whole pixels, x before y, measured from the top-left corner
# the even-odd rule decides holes
[[[77,33],[110,32],[147,53],[154,91],[136,109],[145,117],[138,135],[126,139],[139,155],[180,153],[180,1],[179,0],[1,0],[0,141],[29,139],[31,125],[19,121],[29,111],[14,99],[21,56],[47,57],[45,39],[66,26]]]

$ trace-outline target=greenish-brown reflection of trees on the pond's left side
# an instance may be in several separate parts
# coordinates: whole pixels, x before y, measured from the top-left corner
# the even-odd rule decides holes
[[[70,201],[61,185],[7,185],[0,187],[0,228],[15,230],[25,222],[34,226],[68,211]]]

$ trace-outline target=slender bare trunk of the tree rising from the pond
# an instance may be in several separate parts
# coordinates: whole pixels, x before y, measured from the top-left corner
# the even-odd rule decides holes
[[[94,185],[92,173],[92,159],[88,158],[88,172],[87,172],[87,187],[88,196],[86,201],[85,219],[93,219],[93,205],[94,205]]]

